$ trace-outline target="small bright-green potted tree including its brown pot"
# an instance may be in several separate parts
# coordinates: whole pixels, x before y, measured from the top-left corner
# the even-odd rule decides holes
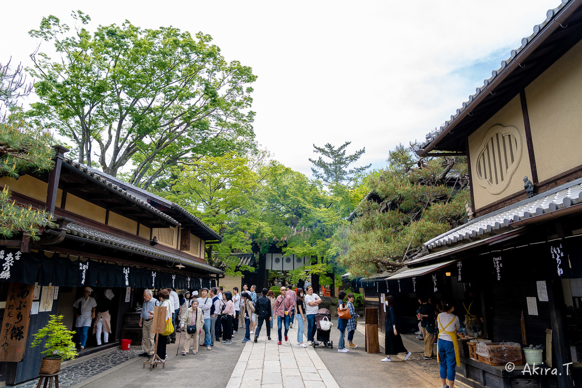
[[[40,365],[40,373],[53,375],[61,370],[61,361],[63,359],[73,359],[77,355],[73,342],[74,332],[70,331],[63,325],[62,315],[51,315],[44,328],[33,334],[34,341],[31,347],[39,346],[44,340],[45,351]]]

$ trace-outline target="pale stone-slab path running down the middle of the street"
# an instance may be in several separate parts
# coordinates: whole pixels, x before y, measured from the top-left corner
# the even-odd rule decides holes
[[[289,341],[283,339],[281,345],[273,329],[271,341],[263,327],[257,343],[245,344],[226,388],[339,388],[314,348],[297,346],[295,329],[289,329]],[[330,351],[338,350],[334,346]]]

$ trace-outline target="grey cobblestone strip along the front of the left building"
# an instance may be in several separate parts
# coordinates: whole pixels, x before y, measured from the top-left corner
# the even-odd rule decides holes
[[[105,372],[113,366],[122,364],[122,362],[129,361],[137,357],[141,351],[139,350],[111,350],[108,353],[95,355],[74,364],[65,365],[61,368],[59,375],[59,387],[68,388],[76,385],[83,380],[95,376],[98,373]],[[16,388],[33,388],[38,384],[38,379],[29,380],[24,383],[17,384]]]

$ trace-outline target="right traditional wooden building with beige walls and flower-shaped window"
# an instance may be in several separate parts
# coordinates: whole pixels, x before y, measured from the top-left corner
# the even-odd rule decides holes
[[[453,299],[462,321],[466,308],[477,318],[482,337],[541,344],[544,364],[556,368],[508,371],[466,354],[457,379],[470,386],[582,385],[581,6],[563,0],[549,10],[427,135],[420,155],[467,156],[476,218],[427,241],[428,254],[376,283],[380,293]]]

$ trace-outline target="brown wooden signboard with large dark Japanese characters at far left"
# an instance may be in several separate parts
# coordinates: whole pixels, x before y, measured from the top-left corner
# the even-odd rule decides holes
[[[0,332],[0,361],[19,362],[26,349],[34,284],[13,283],[6,298]]]

